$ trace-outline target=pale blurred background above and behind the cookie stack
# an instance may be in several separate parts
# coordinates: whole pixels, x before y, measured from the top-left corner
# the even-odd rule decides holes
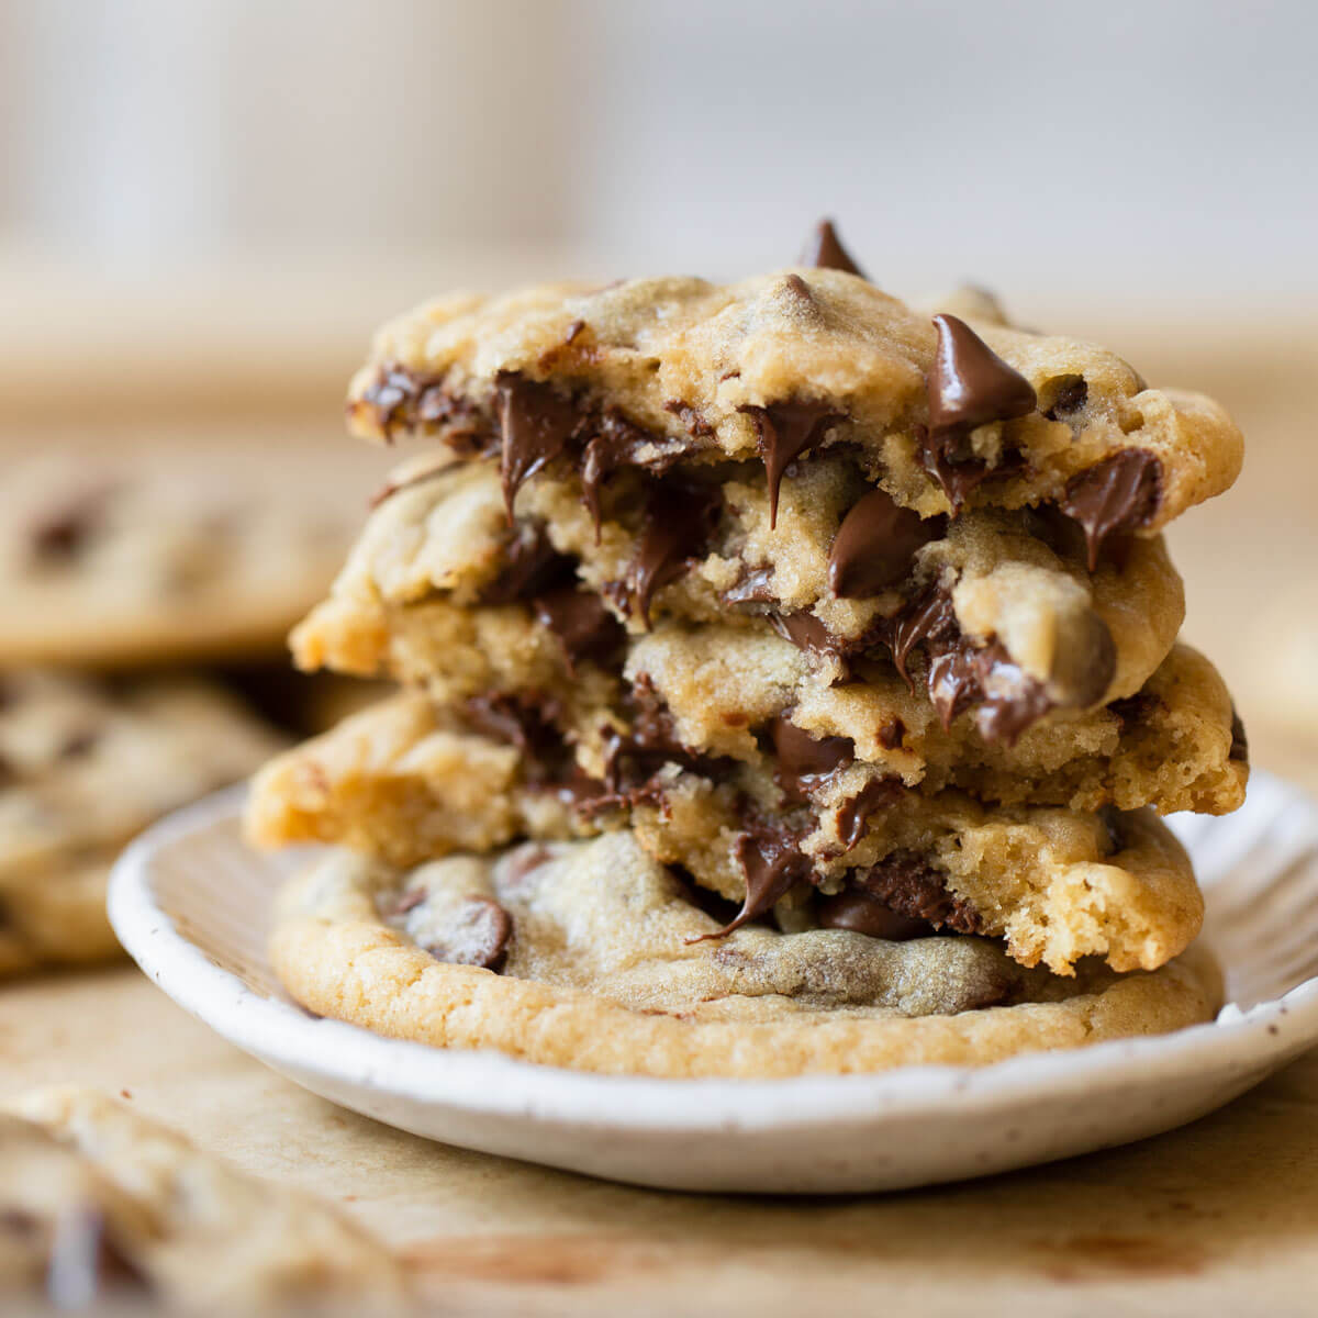
[[[0,431],[281,436],[285,480],[391,311],[739,275],[832,214],[891,291],[1232,407],[1188,633],[1306,766],[1315,42],[1311,0],[0,0]]]

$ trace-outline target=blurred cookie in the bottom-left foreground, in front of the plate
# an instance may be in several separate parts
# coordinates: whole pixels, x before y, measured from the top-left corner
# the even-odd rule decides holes
[[[311,1195],[245,1176],[95,1090],[5,1106],[0,1296],[22,1311],[42,1294],[61,1313],[401,1310],[398,1264]]]

